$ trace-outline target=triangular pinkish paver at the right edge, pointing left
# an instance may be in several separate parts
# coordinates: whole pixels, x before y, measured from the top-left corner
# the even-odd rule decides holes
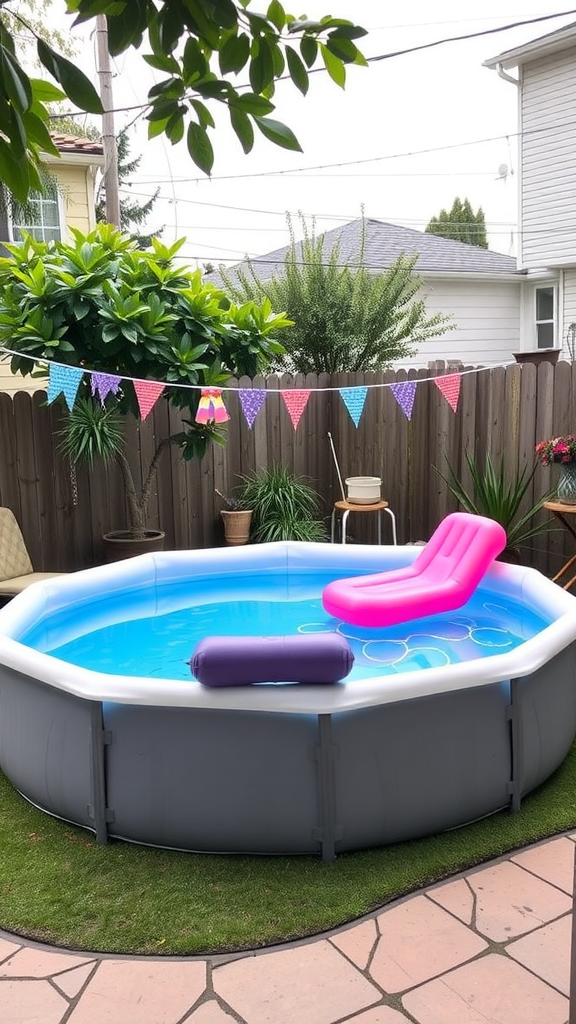
[[[506,952],[537,974],[548,985],[570,993],[570,943],[572,916],[567,914],[551,925],[525,935],[506,946]]]

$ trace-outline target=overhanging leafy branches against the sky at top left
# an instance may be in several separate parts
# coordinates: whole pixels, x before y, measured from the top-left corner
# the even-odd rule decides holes
[[[254,128],[276,145],[300,151],[291,129],[270,116],[276,82],[287,76],[305,94],[311,69],[321,65],[343,87],[345,66],[366,63],[355,43],[366,32],[352,22],[296,18],[279,0],[271,0],[264,14],[250,6],[251,0],[67,2],[67,10],[77,15],[75,25],[106,15],[114,56],[146,47],[143,59],[165,76],[148,95],[149,136],[164,134],[176,143],[186,134],[192,160],[206,174],[214,161],[209,137],[214,102],[228,108],[245,153],[254,144]],[[89,79],[31,31],[38,58],[58,87],[29,77],[13,32],[0,20],[0,178],[19,202],[31,189],[42,190],[42,154],[58,155],[47,129],[46,104],[68,96],[82,111],[101,113]],[[235,88],[231,78],[237,75],[247,75],[249,86]]]

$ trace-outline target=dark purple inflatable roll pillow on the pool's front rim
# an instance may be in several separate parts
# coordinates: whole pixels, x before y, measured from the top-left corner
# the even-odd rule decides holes
[[[205,637],[190,663],[192,674],[204,686],[337,683],[353,665],[349,644],[338,633]]]

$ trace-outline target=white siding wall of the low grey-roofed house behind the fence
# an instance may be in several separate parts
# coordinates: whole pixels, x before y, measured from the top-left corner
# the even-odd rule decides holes
[[[518,282],[428,280],[429,313],[452,316],[455,330],[422,342],[416,355],[396,366],[425,367],[433,359],[466,365],[509,362],[520,348],[522,279]]]

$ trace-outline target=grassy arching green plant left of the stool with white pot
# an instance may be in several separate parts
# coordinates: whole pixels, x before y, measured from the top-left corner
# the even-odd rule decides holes
[[[243,477],[242,502],[252,510],[251,538],[266,541],[325,541],[320,496],[286,466],[259,469]]]

